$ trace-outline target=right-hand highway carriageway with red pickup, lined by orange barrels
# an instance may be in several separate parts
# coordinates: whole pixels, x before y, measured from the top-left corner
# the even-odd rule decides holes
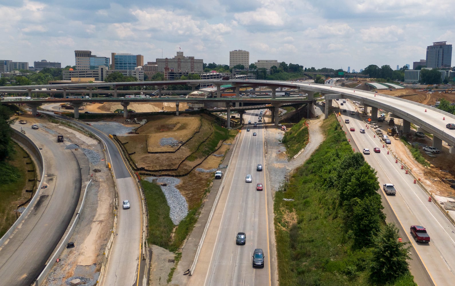
[[[352,105],[349,105],[353,110]],[[397,189],[396,196],[386,196],[387,201],[394,210],[401,226],[410,239],[418,256],[429,272],[435,285],[451,285],[455,281],[455,227],[447,220],[444,214],[428,202],[428,196],[419,185],[413,183],[413,178],[401,170],[401,164],[395,163],[392,155],[387,155],[387,149],[383,148],[382,141],[374,138],[371,130],[365,134],[359,132],[365,128],[364,123],[358,116],[348,114],[341,115],[342,120],[349,118],[349,127],[354,126],[355,132],[350,132],[359,151],[363,148],[371,150],[370,155],[364,155],[365,160],[377,171],[379,185],[393,183]],[[392,139],[392,144],[397,142]],[[379,147],[381,153],[374,153],[373,148]],[[429,244],[415,242],[410,235],[411,225],[425,226],[430,234]],[[414,257],[414,259],[418,259]]]

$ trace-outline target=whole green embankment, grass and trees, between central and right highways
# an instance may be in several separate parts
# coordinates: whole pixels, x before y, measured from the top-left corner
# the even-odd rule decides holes
[[[275,196],[280,286],[415,285],[376,172],[334,116],[323,128],[326,140]]]

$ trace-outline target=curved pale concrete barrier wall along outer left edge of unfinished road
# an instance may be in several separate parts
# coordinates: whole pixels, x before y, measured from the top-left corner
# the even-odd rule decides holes
[[[0,239],[0,246],[2,246],[5,241],[7,241],[11,234],[16,230],[16,228],[19,226],[19,224],[26,218],[30,210],[32,209],[33,205],[35,204],[36,199],[40,196],[40,191],[41,191],[41,186],[43,185],[43,180],[44,180],[44,174],[45,174],[45,165],[44,165],[44,159],[41,154],[40,149],[33,143],[30,138],[22,134],[22,132],[12,129],[13,133],[11,134],[11,138],[15,140],[16,142],[21,143],[24,145],[30,152],[30,156],[33,156],[35,159],[35,162],[38,162],[38,174],[41,175],[40,179],[40,184],[38,184],[38,187],[36,188],[35,195],[33,198],[30,200],[29,205],[25,208],[25,211],[22,212],[22,214],[19,216],[19,218],[15,221],[15,223],[10,227],[8,231],[6,231],[5,235],[1,237]],[[38,175],[38,176],[39,176]]]

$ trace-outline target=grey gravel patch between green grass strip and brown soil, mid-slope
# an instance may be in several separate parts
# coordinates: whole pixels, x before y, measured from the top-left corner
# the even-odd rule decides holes
[[[166,183],[167,186],[160,186],[166,197],[167,205],[169,206],[169,216],[174,225],[178,226],[188,214],[188,203],[184,196],[177,190],[175,185],[180,183],[180,180],[173,177],[147,177],[147,181],[152,182],[157,179],[159,183]]]

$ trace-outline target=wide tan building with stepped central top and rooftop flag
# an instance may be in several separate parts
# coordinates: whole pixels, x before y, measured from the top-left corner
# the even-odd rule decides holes
[[[157,72],[165,71],[187,71],[190,73],[203,72],[204,60],[195,59],[193,56],[184,56],[183,52],[177,52],[177,55],[172,59],[157,59],[156,62],[147,62],[144,66],[144,73],[151,76]]]

